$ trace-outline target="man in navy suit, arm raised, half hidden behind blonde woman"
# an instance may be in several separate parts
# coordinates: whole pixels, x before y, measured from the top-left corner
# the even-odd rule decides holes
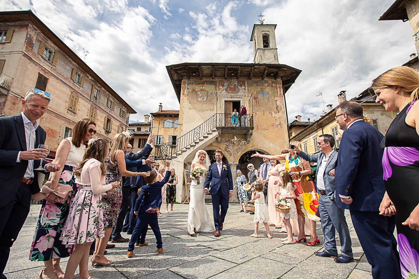
[[[136,161],[141,160],[140,166],[134,166],[131,168],[127,167],[127,171],[137,171],[137,168],[145,165],[146,163],[150,163],[146,158],[150,155],[151,151],[153,150],[153,134],[150,134],[145,144],[144,148],[138,153],[132,152],[132,145],[127,145],[127,154],[125,154],[125,160],[129,161]],[[131,186],[135,184],[136,177],[123,177],[122,178],[122,203],[121,208],[119,209],[118,219],[116,220],[116,225],[114,230],[112,231],[111,241],[112,243],[116,242],[127,242],[129,238],[123,238],[121,235],[122,227],[124,225],[124,219],[127,215],[129,204],[131,203],[132,193],[131,193]]]

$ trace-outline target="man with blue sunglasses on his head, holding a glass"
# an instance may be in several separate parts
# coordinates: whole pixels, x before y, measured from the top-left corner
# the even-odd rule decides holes
[[[39,92],[37,92],[39,91]],[[40,191],[38,172],[40,159],[46,158],[44,144],[47,133],[38,119],[47,111],[49,94],[31,89],[22,100],[23,112],[14,116],[0,117],[0,278],[7,278],[6,267],[10,247],[18,237],[28,216],[31,195]],[[44,152],[42,152],[44,151]],[[47,171],[59,171],[60,165],[42,162]],[[54,201],[54,195],[48,199]]]

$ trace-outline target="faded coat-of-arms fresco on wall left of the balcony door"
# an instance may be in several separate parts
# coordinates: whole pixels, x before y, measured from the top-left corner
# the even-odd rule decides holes
[[[189,103],[201,111],[214,110],[215,81],[188,81]]]

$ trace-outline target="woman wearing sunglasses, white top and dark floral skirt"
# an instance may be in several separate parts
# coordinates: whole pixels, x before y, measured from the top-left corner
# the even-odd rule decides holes
[[[96,133],[95,128],[96,123],[91,119],[81,119],[73,127],[73,136],[62,140],[57,148],[54,163],[64,167],[52,174],[50,187],[55,189],[58,183],[67,184],[73,187],[73,191],[70,192],[64,203],[49,202],[53,200],[54,194],[48,196],[49,201],[45,199],[42,201],[29,255],[31,261],[44,261],[44,267],[39,274],[40,279],[61,279],[64,277],[59,261],[60,258],[70,256],[72,246],[66,247],[59,237],[67,219],[72,199],[78,191],[77,184],[74,183],[73,171],[78,168],[79,161],[83,159],[86,144]]]

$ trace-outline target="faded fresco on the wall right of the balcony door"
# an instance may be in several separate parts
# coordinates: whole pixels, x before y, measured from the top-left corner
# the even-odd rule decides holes
[[[278,91],[272,81],[253,81],[249,83],[249,96],[253,98],[253,111],[275,111],[275,96]]]

